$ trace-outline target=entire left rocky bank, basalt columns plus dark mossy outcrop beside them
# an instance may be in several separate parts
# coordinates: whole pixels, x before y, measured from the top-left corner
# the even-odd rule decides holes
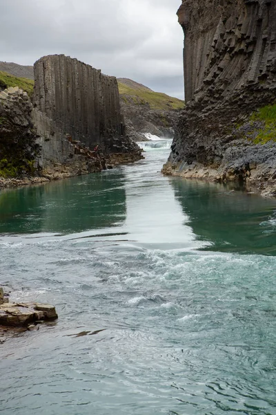
[[[18,87],[0,90],[0,187],[142,158],[125,134],[115,77],[64,55],[39,59],[34,77],[32,102]]]

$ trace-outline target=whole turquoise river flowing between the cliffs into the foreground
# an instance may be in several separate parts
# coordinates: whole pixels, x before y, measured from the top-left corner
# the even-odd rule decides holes
[[[169,147],[0,192],[0,285],[59,314],[0,344],[1,414],[276,414],[275,201]]]

